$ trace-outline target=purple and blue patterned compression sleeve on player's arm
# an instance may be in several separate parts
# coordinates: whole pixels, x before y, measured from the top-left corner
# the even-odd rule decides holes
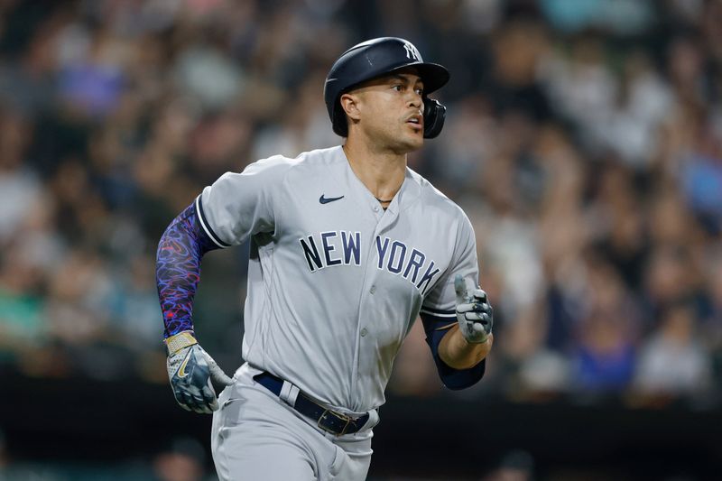
[[[193,298],[200,282],[200,258],[218,245],[200,227],[195,202],[175,217],[158,244],[155,282],[161,301],[163,337],[193,330]]]

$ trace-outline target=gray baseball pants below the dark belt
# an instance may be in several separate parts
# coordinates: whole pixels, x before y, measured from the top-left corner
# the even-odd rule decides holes
[[[211,450],[223,481],[362,481],[371,463],[371,439],[378,415],[368,427],[336,436],[316,426],[279,397],[257,384],[260,371],[242,365],[235,384],[218,396]]]

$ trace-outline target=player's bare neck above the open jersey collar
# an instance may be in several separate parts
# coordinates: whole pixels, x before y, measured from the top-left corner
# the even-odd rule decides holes
[[[375,152],[366,143],[347,142],[351,170],[376,199],[393,199],[406,176],[406,154]]]

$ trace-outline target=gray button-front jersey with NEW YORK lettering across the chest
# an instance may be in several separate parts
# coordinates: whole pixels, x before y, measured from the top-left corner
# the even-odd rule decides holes
[[[384,210],[340,146],[226,173],[196,202],[216,244],[251,236],[245,360],[340,412],[383,404],[420,311],[454,325],[455,275],[477,285],[461,208],[407,169]]]

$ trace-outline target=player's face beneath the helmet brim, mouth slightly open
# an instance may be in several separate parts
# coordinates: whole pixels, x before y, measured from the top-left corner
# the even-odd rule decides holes
[[[423,82],[415,69],[374,79],[354,91],[357,125],[379,150],[409,153],[423,145]]]

